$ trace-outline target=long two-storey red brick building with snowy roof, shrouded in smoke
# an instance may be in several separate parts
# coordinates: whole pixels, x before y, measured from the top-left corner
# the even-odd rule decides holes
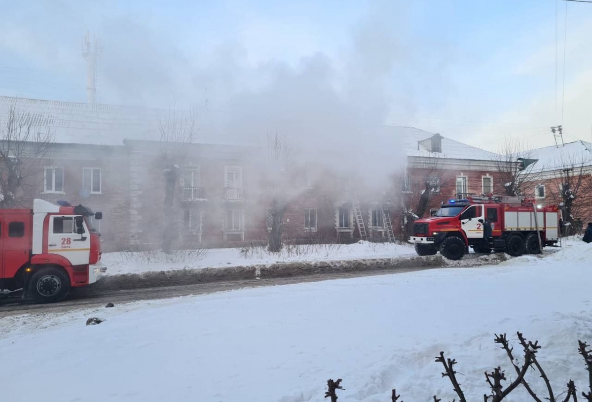
[[[0,98],[3,104],[47,122],[58,141],[86,142],[54,144],[40,161],[35,183],[30,183],[34,190],[25,198],[65,199],[101,210],[106,249],[159,246],[165,219],[164,172],[170,168],[163,151],[173,157],[178,170],[173,200],[176,247],[265,242],[277,188],[260,149],[147,141],[155,138],[157,124],[153,118],[138,118],[137,109]],[[150,115],[143,109],[140,114]],[[412,127],[384,127],[382,136],[378,145],[397,150],[399,157],[382,161],[388,179],[379,184],[359,176],[356,168],[336,168],[323,158],[299,161],[285,172],[285,241],[403,236],[408,219],[429,215],[442,200],[498,192],[502,184],[495,155],[487,151]],[[426,189],[427,204],[419,211]]]

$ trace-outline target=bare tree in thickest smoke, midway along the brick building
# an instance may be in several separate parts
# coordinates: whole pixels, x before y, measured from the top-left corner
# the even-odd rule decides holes
[[[268,249],[279,252],[282,249],[282,226],[289,204],[288,173],[291,164],[291,148],[284,135],[268,134],[268,179],[271,181],[271,208],[267,219],[269,230]],[[271,225],[270,225],[271,224]]]

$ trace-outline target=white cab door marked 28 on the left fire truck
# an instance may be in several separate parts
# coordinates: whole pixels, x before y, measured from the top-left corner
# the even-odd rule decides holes
[[[76,221],[74,215],[50,216],[47,252],[65,257],[72,265],[87,265],[91,254],[91,236],[84,222],[84,233],[77,234]]]

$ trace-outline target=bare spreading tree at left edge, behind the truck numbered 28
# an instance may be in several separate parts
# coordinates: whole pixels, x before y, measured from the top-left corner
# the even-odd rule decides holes
[[[0,121],[0,208],[23,201],[25,187],[36,186],[41,160],[54,143],[54,132],[38,115],[20,113],[14,106]]]

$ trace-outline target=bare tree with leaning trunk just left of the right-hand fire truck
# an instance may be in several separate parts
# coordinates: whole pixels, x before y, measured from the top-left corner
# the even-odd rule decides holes
[[[403,212],[404,235],[411,234],[413,222],[423,218],[433,197],[440,193],[446,180],[438,158],[424,158],[413,166],[403,166],[393,175],[395,205]]]

